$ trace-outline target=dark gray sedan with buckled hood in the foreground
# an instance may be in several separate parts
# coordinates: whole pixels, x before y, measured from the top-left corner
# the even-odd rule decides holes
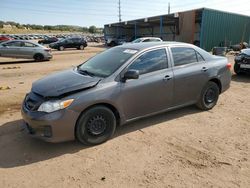
[[[46,141],[100,144],[139,118],[193,104],[212,109],[230,86],[230,68],[190,44],[126,44],[34,82],[22,116]]]

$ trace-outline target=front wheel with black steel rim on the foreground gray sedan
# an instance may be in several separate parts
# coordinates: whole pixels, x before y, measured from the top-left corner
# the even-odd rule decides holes
[[[111,138],[115,129],[114,113],[105,106],[95,106],[80,116],[76,124],[75,136],[85,145],[97,145]]]

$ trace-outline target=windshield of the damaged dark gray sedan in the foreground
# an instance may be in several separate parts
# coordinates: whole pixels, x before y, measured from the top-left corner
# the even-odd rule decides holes
[[[78,66],[78,71],[90,76],[108,77],[137,52],[134,49],[111,48]]]

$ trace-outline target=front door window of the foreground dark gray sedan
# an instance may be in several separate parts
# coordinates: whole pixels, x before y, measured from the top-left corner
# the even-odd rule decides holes
[[[165,69],[168,67],[167,54],[165,49],[146,52],[137,58],[129,69],[139,70],[140,74]]]

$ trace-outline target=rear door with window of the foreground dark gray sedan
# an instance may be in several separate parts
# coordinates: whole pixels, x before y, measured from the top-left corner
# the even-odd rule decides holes
[[[194,103],[209,79],[204,58],[190,47],[171,47],[175,106]]]

